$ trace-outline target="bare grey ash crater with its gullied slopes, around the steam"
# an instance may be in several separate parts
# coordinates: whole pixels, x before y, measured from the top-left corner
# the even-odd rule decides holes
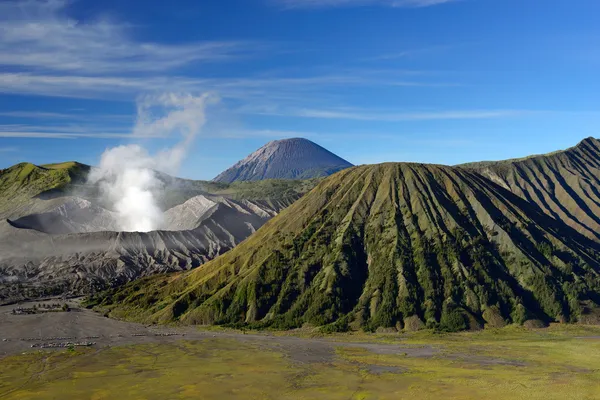
[[[114,213],[87,200],[51,200],[59,205],[50,211],[0,222],[0,300],[89,294],[196,268],[246,239],[293,200],[201,195],[167,210],[166,230],[149,233],[116,232]]]

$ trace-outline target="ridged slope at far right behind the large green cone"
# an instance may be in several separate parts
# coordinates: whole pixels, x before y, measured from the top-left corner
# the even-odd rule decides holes
[[[464,165],[589,238],[600,240],[600,141],[518,160]]]

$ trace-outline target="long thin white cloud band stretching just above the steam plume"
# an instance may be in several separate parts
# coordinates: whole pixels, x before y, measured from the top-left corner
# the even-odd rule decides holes
[[[0,92],[72,98],[130,101],[139,93],[218,92],[223,98],[245,100],[299,99],[307,93],[321,97],[336,87],[449,87],[454,83],[399,79],[397,76],[352,72],[320,76],[191,78],[184,76],[81,76],[0,73]],[[317,95],[318,93],[318,95]]]

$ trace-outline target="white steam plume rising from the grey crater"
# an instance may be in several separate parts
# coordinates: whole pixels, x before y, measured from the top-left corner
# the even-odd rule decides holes
[[[139,145],[108,149],[88,178],[98,184],[103,200],[119,215],[127,232],[148,232],[162,227],[162,210],[156,193],[161,181],[155,171],[175,174],[206,121],[212,95],[163,94],[140,98],[133,137],[177,137],[178,143],[151,155]]]

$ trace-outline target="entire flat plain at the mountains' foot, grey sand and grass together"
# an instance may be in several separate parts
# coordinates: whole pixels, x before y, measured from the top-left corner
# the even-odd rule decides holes
[[[71,306],[0,307],[1,399],[600,398],[599,327],[323,336],[144,326]],[[32,347],[68,342],[94,344]]]

